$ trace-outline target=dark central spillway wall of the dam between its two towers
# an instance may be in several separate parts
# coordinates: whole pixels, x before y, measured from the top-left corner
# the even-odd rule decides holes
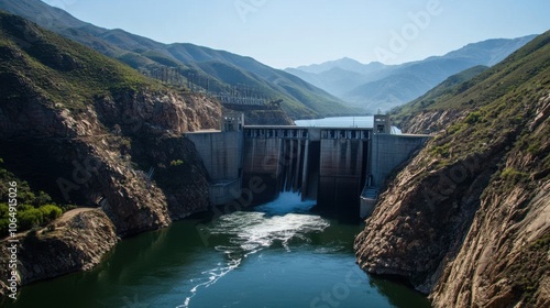
[[[245,127],[243,183],[261,178],[265,202],[282,191],[300,193],[320,207],[353,204],[369,174],[372,129]]]

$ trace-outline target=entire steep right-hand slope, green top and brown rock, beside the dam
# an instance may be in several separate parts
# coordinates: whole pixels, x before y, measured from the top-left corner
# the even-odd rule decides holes
[[[449,117],[366,220],[362,268],[407,278],[436,307],[550,304],[549,43],[544,33],[414,114],[420,131]]]

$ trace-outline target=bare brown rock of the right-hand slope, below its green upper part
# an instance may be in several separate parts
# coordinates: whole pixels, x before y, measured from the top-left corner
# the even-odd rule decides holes
[[[540,157],[518,144],[508,152],[512,138],[448,165],[433,157],[433,147],[422,151],[389,184],[358,235],[361,267],[407,277],[436,307],[547,306],[546,119],[530,132],[546,142],[536,150]]]

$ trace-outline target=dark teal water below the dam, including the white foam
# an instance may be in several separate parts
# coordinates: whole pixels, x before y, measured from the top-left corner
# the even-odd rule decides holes
[[[121,241],[92,271],[25,286],[2,307],[430,307],[355,264],[362,226],[284,193],[266,205]]]

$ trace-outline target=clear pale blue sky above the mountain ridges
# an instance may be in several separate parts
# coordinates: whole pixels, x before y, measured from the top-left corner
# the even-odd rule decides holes
[[[550,30],[549,0],[43,0],[107,29],[193,43],[275,68],[385,64]]]

